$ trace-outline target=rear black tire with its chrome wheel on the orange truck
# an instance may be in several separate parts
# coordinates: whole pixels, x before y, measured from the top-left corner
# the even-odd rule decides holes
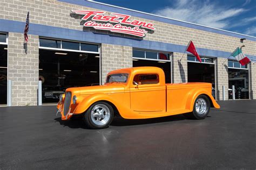
[[[196,104],[198,104],[198,102],[200,102],[200,103],[205,102],[206,108],[202,109],[201,112],[198,111],[198,109],[196,109]],[[189,113],[186,113],[186,114],[183,114],[183,115],[188,119],[204,119],[209,114],[210,108],[211,108],[211,103],[210,103],[208,97],[206,95],[199,95],[196,98],[196,101],[194,102],[193,111],[189,112]]]

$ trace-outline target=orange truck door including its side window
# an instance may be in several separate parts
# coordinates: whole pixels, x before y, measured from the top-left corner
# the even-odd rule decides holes
[[[166,87],[158,74],[137,74],[130,87],[131,109],[139,112],[165,111]]]

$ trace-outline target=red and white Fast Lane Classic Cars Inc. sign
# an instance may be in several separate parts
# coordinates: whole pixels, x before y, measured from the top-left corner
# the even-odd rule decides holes
[[[156,30],[152,23],[142,22],[140,20],[130,20],[131,16],[120,13],[104,15],[104,11],[72,10],[72,12],[79,15],[84,15],[82,20],[88,20],[91,18],[91,20],[84,23],[84,26],[93,27],[96,30],[107,30],[137,37],[144,37],[145,33],[148,32],[147,30]]]

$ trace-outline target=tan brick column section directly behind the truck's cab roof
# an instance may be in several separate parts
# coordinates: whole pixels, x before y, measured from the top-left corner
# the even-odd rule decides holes
[[[132,47],[102,44],[101,49],[102,84],[110,71],[132,67]]]

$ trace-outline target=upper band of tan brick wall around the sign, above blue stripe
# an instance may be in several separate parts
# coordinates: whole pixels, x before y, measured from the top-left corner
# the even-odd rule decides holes
[[[17,20],[25,22],[26,14],[30,11],[30,22],[48,26],[63,27],[73,30],[84,30],[82,16],[73,15],[71,10],[98,10],[59,2],[57,0],[1,0],[0,19]],[[111,12],[111,11],[110,11]],[[110,12],[108,12],[110,14]],[[212,33],[202,30],[191,29],[184,26],[161,23],[154,20],[131,17],[131,20],[138,19],[144,22],[151,22],[156,27],[153,33],[147,33],[145,40],[166,42],[186,46],[188,41],[193,40],[194,45],[200,48],[216,49],[220,51],[233,52],[235,48],[241,46],[240,38],[225,36],[223,34]],[[86,31],[114,34],[123,37],[132,37],[108,31],[96,31],[87,29]],[[136,38],[136,37],[132,37]],[[245,54],[256,55],[256,42],[245,40],[243,51]]]

